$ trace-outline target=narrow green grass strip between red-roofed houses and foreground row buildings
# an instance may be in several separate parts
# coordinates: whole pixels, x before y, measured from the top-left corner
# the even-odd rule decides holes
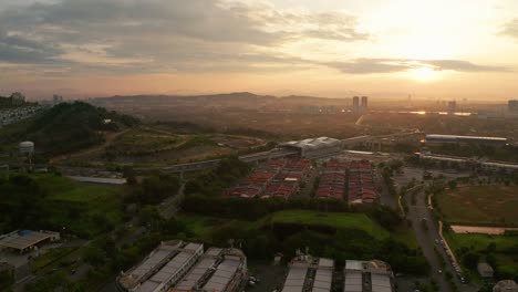
[[[273,223],[302,223],[307,226],[325,226],[335,229],[360,229],[377,239],[388,237],[388,231],[364,213],[289,210],[271,215],[270,220]]]

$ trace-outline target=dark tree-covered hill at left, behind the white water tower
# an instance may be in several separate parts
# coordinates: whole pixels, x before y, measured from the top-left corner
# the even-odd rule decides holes
[[[112,123],[105,124],[104,119]],[[33,140],[38,152],[65,154],[102,143],[101,132],[118,132],[137,123],[134,117],[86,103],[62,103],[32,119],[6,127],[0,132],[0,143]]]

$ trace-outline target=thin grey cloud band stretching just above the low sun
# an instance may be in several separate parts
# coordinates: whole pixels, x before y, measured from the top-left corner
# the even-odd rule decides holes
[[[478,65],[463,60],[356,59],[349,62],[321,63],[350,74],[403,72],[412,69],[450,70],[457,72],[506,72],[501,66]]]

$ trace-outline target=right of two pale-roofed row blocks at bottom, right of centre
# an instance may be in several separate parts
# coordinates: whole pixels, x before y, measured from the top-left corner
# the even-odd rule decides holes
[[[394,292],[394,275],[382,261],[345,261],[343,292]]]

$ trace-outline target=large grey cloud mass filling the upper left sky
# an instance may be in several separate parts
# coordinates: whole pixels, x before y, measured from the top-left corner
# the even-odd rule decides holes
[[[356,27],[344,13],[287,12],[258,3],[27,0],[0,7],[0,62],[139,73],[302,66],[279,46],[369,39]]]

